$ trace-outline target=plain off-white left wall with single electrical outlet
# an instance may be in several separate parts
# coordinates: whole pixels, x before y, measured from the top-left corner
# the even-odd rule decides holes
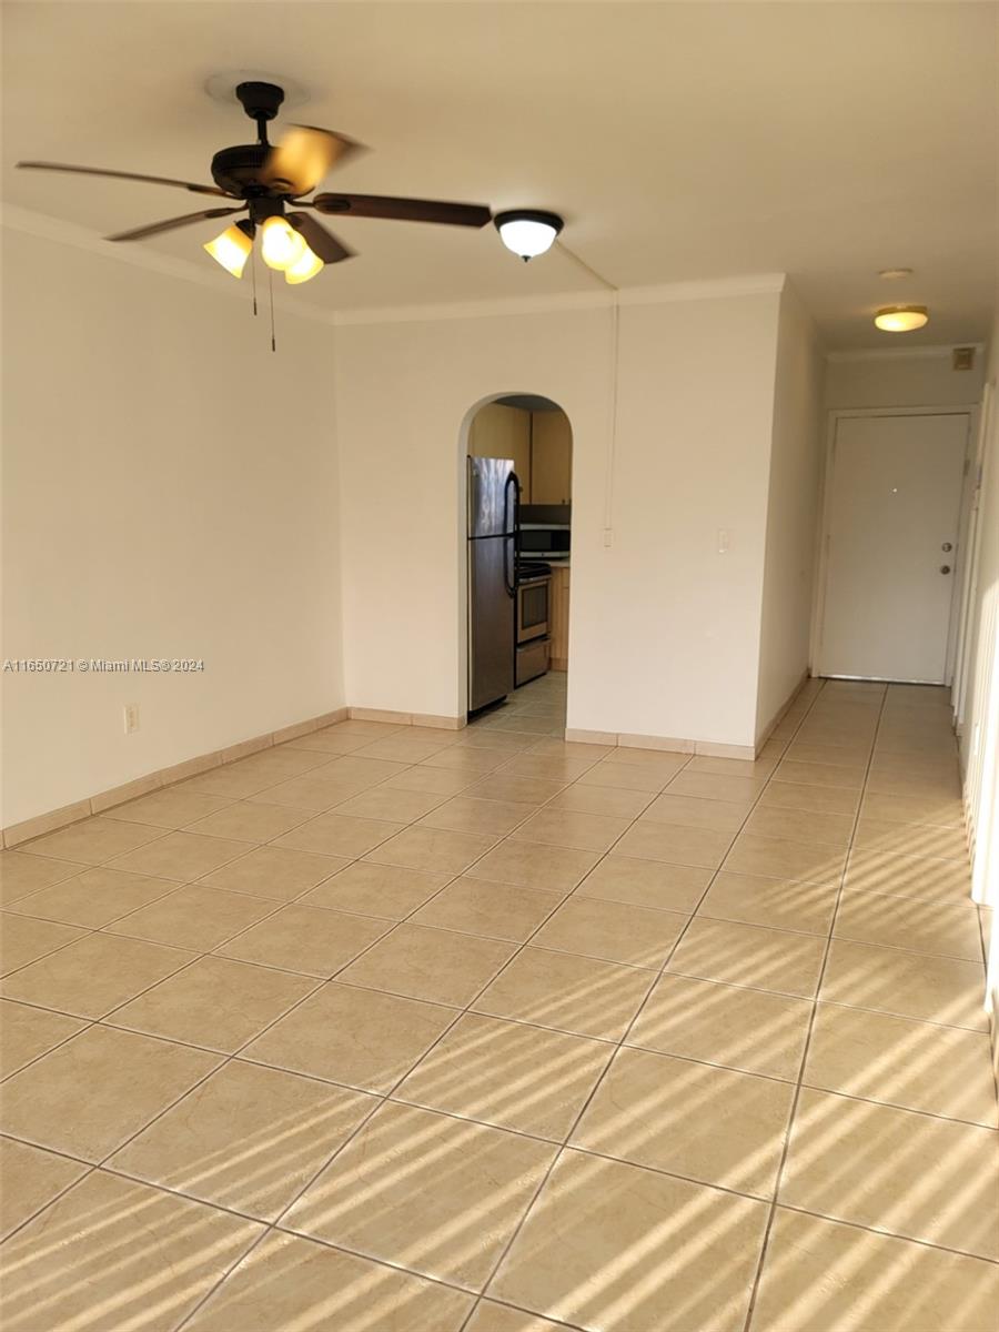
[[[4,232],[3,825],[344,703],[332,330]],[[140,730],[124,734],[125,703]]]

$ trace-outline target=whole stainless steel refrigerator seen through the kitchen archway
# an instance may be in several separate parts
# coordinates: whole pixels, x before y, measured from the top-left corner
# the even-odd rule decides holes
[[[469,711],[514,687],[517,511],[511,458],[469,458]]]

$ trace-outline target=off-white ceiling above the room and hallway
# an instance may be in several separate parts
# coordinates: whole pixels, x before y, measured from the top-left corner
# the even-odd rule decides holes
[[[996,15],[979,3],[5,3],[4,198],[121,230],[193,210],[156,185],[15,172],[48,159],[210,181],[253,139],[204,91],[293,77],[296,119],[372,152],[326,188],[551,208],[619,285],[787,272],[831,348],[899,346],[871,312],[931,309],[904,345],[987,334],[995,293]],[[278,121],[280,125],[280,121]],[[210,265],[202,222],[144,244]],[[489,228],[348,220],[329,309],[578,292]],[[911,266],[902,282],[876,270]],[[232,278],[218,270],[220,284]]]

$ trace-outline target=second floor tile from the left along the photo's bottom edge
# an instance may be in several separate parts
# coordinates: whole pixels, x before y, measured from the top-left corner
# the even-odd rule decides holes
[[[190,1332],[458,1332],[472,1296],[273,1231],[197,1311]]]

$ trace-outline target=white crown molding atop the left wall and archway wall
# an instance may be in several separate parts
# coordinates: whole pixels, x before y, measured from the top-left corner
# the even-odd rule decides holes
[[[104,237],[79,222],[48,213],[36,213],[15,204],[3,205],[3,225],[15,232],[41,237],[59,245],[99,254],[119,264],[144,268],[163,277],[180,278],[208,288],[229,300],[245,300],[241,285],[230,282],[201,262],[164,254],[144,245],[109,245]],[[621,290],[555,292],[549,296],[502,296],[492,300],[450,301],[441,304],[368,305],[344,309],[324,309],[305,304],[301,297],[284,292],[274,296],[274,306],[298,318],[328,326],[364,324],[420,324],[444,320],[502,318],[515,314],[558,314],[563,312],[609,309],[618,305],[667,305],[674,301],[710,301],[738,296],[781,293],[783,273],[749,273],[739,277],[706,278],[703,281],[661,282],[649,286],[627,286]]]

